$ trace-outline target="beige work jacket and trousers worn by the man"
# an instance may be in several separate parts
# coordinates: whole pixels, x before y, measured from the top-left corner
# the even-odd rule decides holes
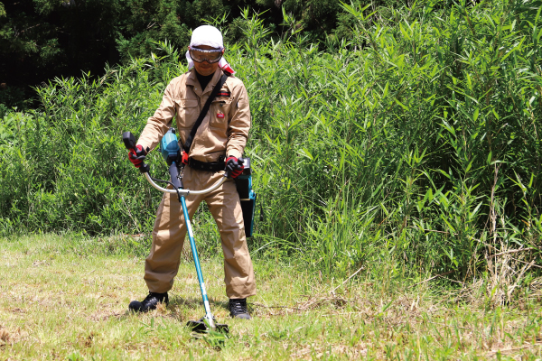
[[[180,146],[185,142],[200,115],[210,92],[222,76],[217,69],[205,89],[201,89],[195,69],[173,79],[164,91],[162,104],[151,116],[138,144],[154,149],[172,126],[175,116]],[[217,162],[220,155],[240,157],[250,129],[247,89],[240,79],[228,77],[212,101],[210,110],[194,136],[190,157],[201,162]],[[196,171],[186,166],[182,183],[185,189],[203,190],[216,184],[224,172]],[[233,180],[205,195],[189,195],[186,207],[193,217],[205,200],[220,231],[224,253],[224,282],[230,299],[244,299],[256,294],[252,261],[238,192]],[[158,206],[151,253],[145,260],[145,282],[149,292],[168,292],[178,272],[186,226],[181,203],[176,195],[164,193]]]

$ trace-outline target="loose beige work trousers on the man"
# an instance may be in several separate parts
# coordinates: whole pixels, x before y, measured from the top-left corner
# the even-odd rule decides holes
[[[182,183],[185,189],[203,190],[216,184],[224,172],[195,171],[186,166]],[[219,227],[224,253],[224,282],[230,299],[256,294],[254,269],[248,254],[243,213],[235,181],[226,180],[217,190],[204,195],[188,195],[186,208],[192,219],[201,200],[207,202]],[[177,195],[164,193],[156,213],[151,253],[145,260],[145,282],[149,292],[168,292],[179,270],[186,226]],[[197,235],[196,238],[197,245]]]

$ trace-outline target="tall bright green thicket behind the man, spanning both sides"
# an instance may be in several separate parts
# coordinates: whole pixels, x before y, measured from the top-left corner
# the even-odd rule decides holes
[[[269,40],[245,13],[246,41],[228,59],[254,119],[247,155],[265,220],[252,242],[330,277],[385,261],[387,277],[481,278],[509,301],[542,267],[540,2],[436,4],[344,5],[354,36],[325,52],[294,23]],[[185,71],[173,46],[155,46],[100,79],[55,79],[39,88],[39,111],[5,116],[5,235],[148,241],[161,194],[127,162],[120,134],[141,132]],[[152,162],[164,176],[156,152]],[[217,246],[210,216],[195,223]]]

